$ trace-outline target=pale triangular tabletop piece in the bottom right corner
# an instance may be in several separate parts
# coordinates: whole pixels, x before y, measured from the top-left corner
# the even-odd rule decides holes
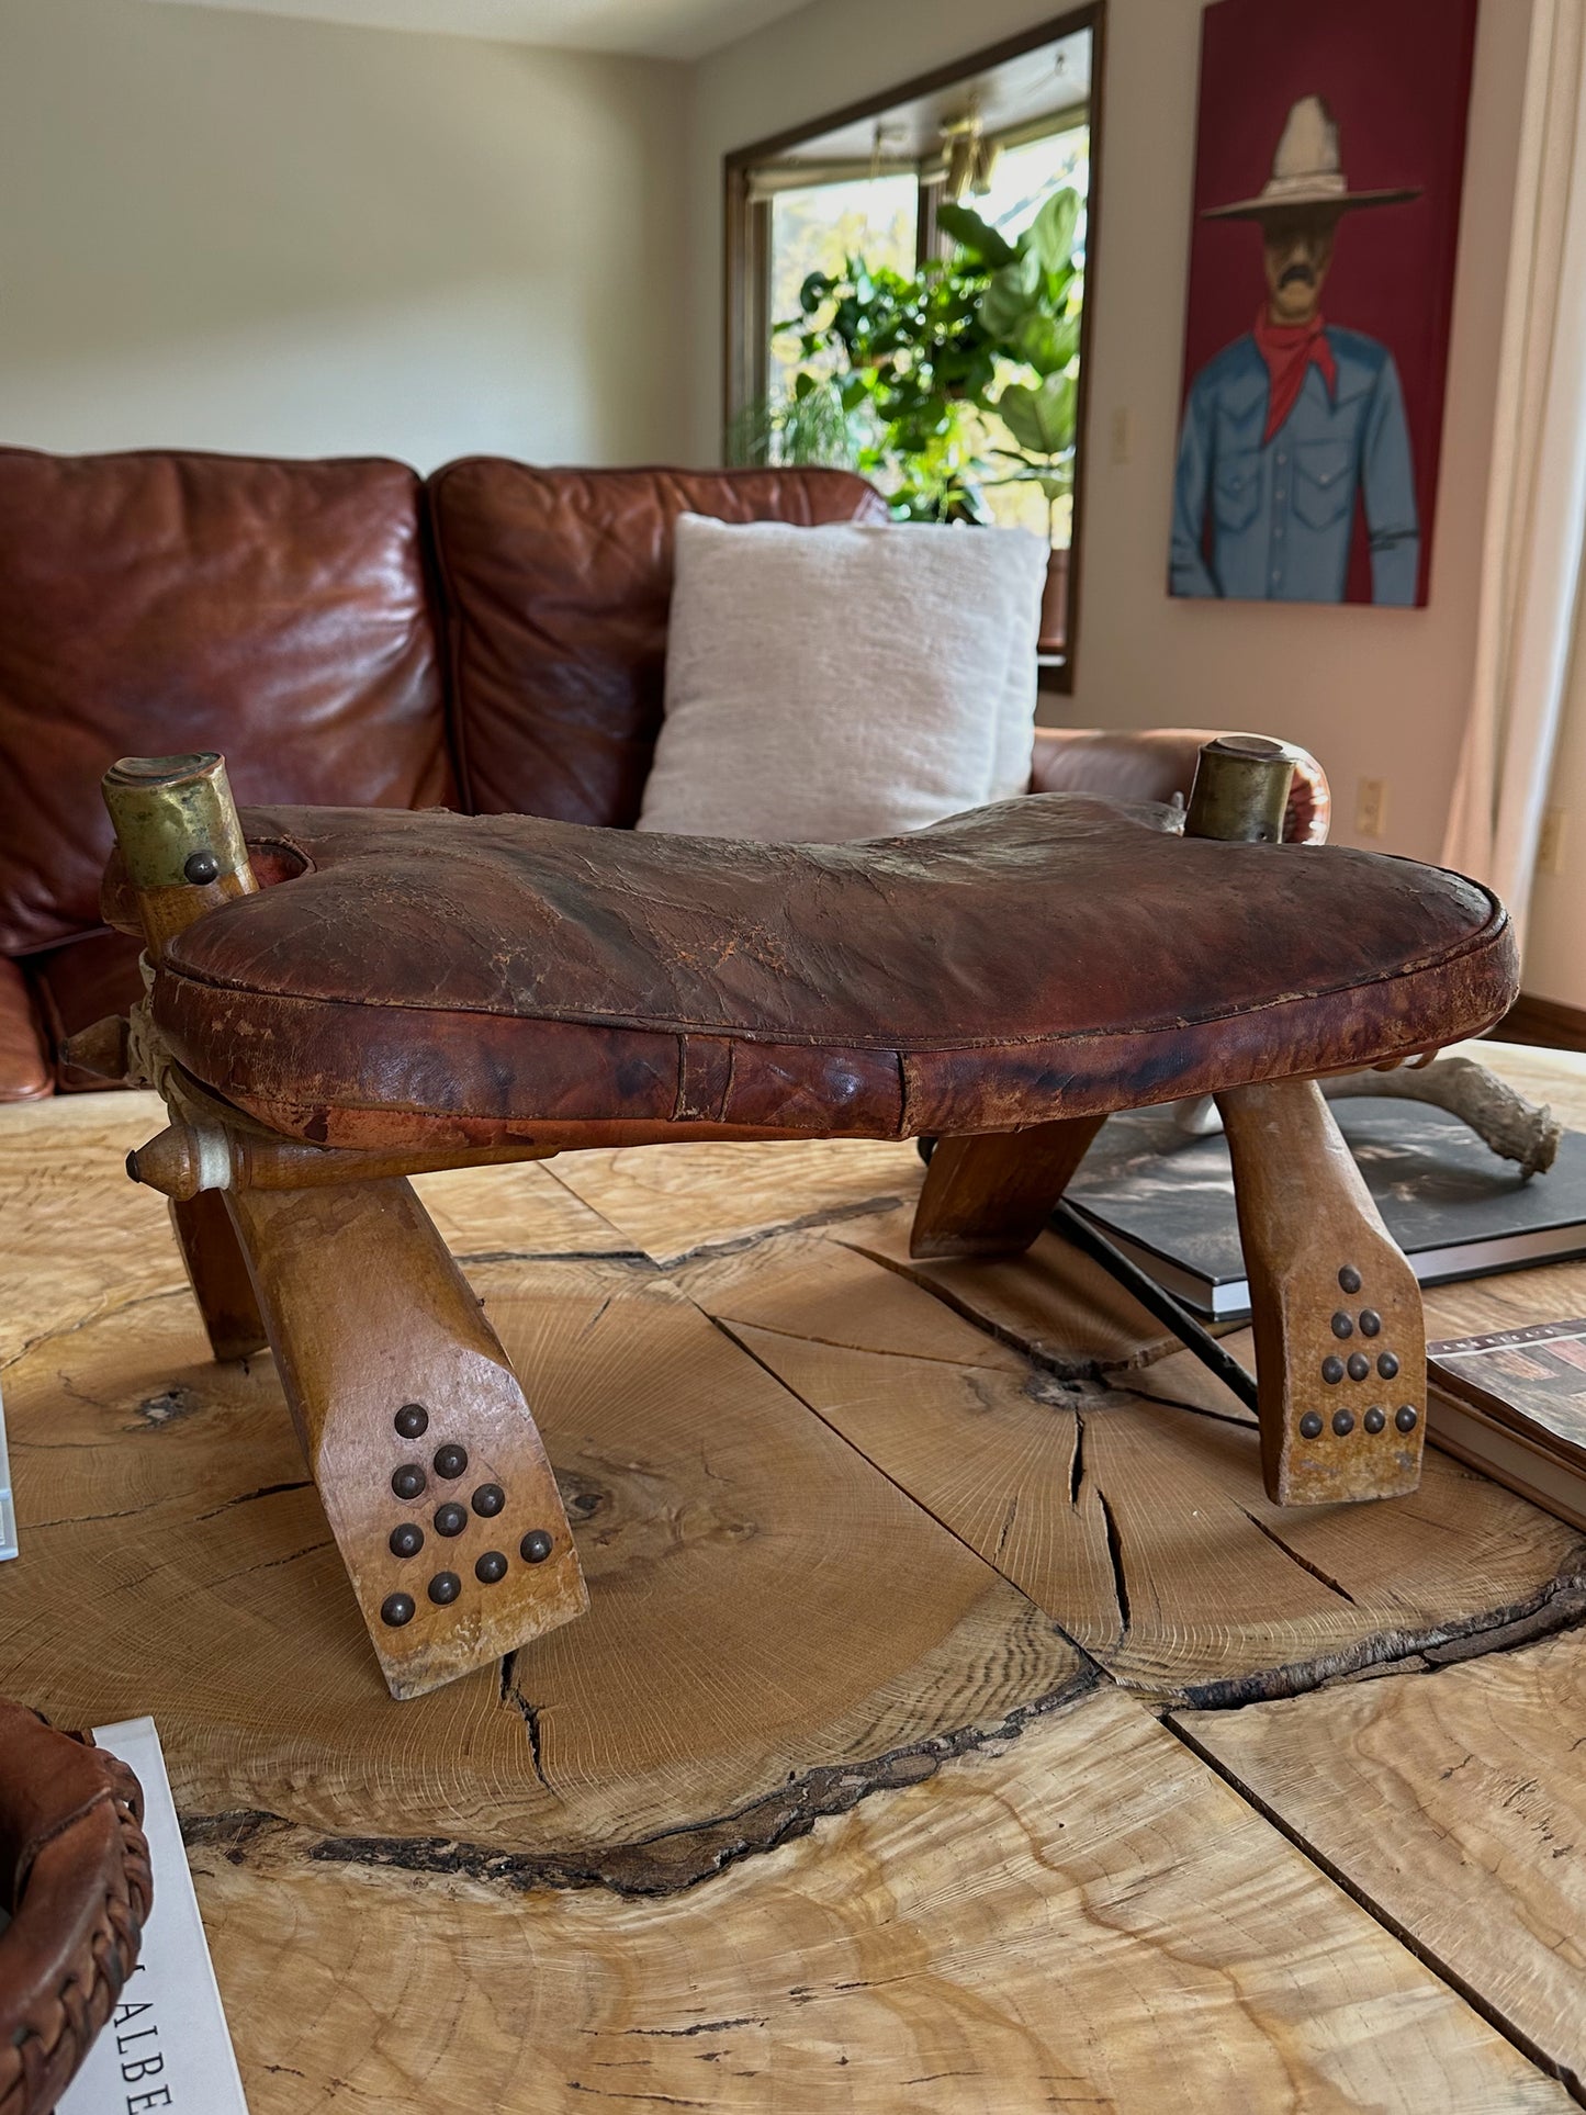
[[[1584,1633],[1174,1724],[1586,2096]]]

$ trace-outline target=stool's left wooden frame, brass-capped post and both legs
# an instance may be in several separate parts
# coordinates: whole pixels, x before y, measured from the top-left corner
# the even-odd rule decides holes
[[[150,962],[258,888],[220,755],[123,757],[104,797]],[[336,1180],[336,1163],[319,1187],[256,1182],[256,1159],[290,1163],[273,1165],[288,1184],[315,1172],[292,1140],[239,1146],[224,1110],[207,1110],[199,1144],[195,1083],[146,1019],[131,1041],[171,1106],[156,1187],[173,1197],[209,1343],[237,1358],[269,1337],[391,1694],[440,1688],[582,1616],[584,1571],[522,1387],[406,1178]],[[152,1180],[156,1163],[144,1148],[127,1172]]]

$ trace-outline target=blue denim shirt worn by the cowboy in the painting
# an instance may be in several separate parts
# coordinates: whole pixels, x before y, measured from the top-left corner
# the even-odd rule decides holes
[[[1174,486],[1174,594],[1341,603],[1356,495],[1375,603],[1415,603],[1421,556],[1410,434],[1394,355],[1328,326],[1336,387],[1311,364],[1269,442],[1267,362],[1237,338],[1191,383]],[[1203,525],[1212,510],[1212,558]]]

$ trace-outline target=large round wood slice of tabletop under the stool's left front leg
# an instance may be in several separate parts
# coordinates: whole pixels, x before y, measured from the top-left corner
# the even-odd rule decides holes
[[[0,1571],[0,1688],[61,1724],[154,1711],[190,1815],[355,1817],[664,1884],[1085,1679],[664,1282],[472,1275],[533,1377],[588,1618],[393,1707],[273,1362],[207,1362],[171,1290],[6,1371],[23,1559]]]

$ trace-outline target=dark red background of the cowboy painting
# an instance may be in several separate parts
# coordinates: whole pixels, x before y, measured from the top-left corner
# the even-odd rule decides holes
[[[1343,216],[1322,292],[1324,321],[1383,343],[1404,383],[1421,516],[1419,603],[1436,520],[1474,47],[1476,0],[1216,0],[1201,17],[1186,391],[1214,353],[1250,330],[1267,296],[1258,222],[1201,214],[1258,195],[1301,95],[1322,95],[1332,110],[1351,190],[1421,186],[1406,205]],[[1370,601],[1360,510],[1345,599]]]

